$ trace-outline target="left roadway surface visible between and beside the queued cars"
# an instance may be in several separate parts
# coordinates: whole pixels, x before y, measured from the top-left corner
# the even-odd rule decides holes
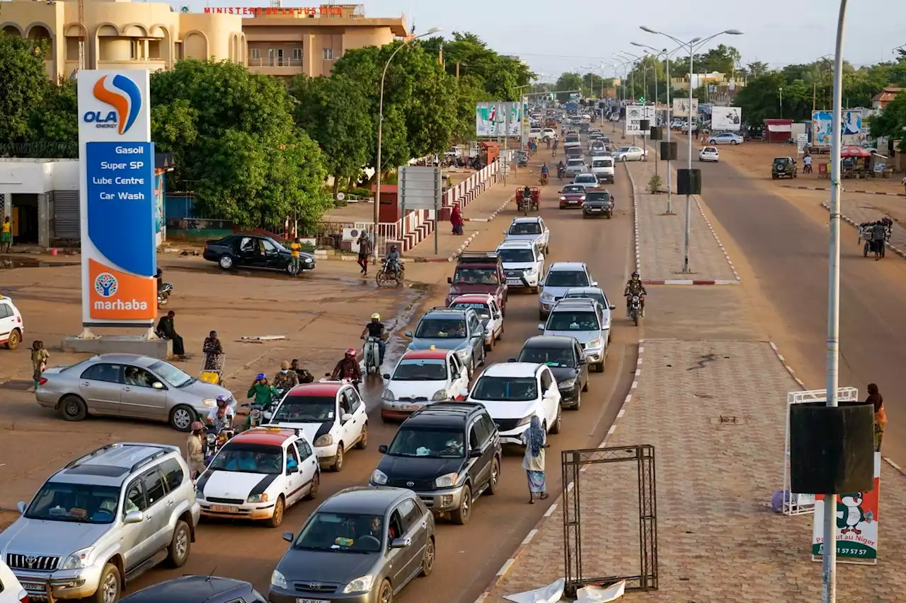
[[[544,151],[541,153],[542,158],[549,158]],[[555,170],[552,171],[555,174]],[[631,244],[631,197],[623,168],[618,167],[617,184],[610,187],[620,209],[612,220],[583,220],[578,211],[556,209],[555,193],[560,183],[555,177],[554,183],[542,193],[541,215],[552,230],[549,260],[589,263],[593,276],[605,292],[615,297],[619,306],[629,270]],[[488,226],[499,232],[514,215],[515,210],[509,209]],[[496,238],[502,238],[502,235]],[[483,239],[487,240],[487,237],[479,235],[476,244]],[[479,249],[476,244],[472,246]],[[617,407],[609,402],[612,397],[622,401],[629,388],[630,371],[635,366],[637,331],[622,319],[619,311],[616,316],[607,369],[603,375],[593,374],[591,377],[590,395],[584,398],[582,409],[564,412],[563,432],[551,439],[552,450],[548,453],[551,459],[559,458],[560,450],[564,448],[598,445],[617,412]],[[536,296],[512,295],[507,308],[504,340],[490,353],[489,359],[506,361],[515,356],[525,339],[537,334],[537,317]],[[614,392],[616,396],[613,396]],[[373,396],[371,392],[369,398],[373,400]],[[324,474],[319,500],[343,487],[366,483],[379,460],[378,445],[390,443],[395,426],[382,424],[377,405],[371,403],[369,406],[372,412],[368,450],[353,451],[348,455],[341,474]],[[438,600],[439,592],[445,593],[445,603],[470,603],[481,593],[547,506],[526,504],[525,473],[521,463],[521,454],[506,455],[501,474],[501,493],[479,499],[467,526],[439,522],[437,571],[430,579],[411,583],[397,598],[400,603]],[[560,489],[559,474],[555,467],[549,472],[549,488],[553,493]],[[256,587],[266,589],[271,571],[285,548],[280,532],[298,530],[315,505],[300,503],[289,509],[283,528],[278,530],[240,523],[207,523],[201,527],[198,542],[184,568],[154,570],[140,577],[132,586],[139,588],[184,573],[216,572],[248,579]]]

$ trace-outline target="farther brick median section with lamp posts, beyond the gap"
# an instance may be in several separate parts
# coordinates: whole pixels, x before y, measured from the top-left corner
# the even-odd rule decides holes
[[[665,178],[666,162],[660,166]],[[689,235],[689,266],[692,274],[682,273],[686,228],[686,197],[674,195],[675,215],[665,215],[666,195],[649,195],[645,191],[654,176],[654,158],[624,164],[631,175],[636,196],[636,263],[642,278],[651,284],[729,284],[738,281],[733,264],[718,241],[714,229],[692,197],[692,224]],[[675,178],[674,178],[675,180]]]

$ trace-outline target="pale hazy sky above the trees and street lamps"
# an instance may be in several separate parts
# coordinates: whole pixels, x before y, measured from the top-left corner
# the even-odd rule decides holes
[[[205,5],[268,3],[177,0],[171,4],[188,5],[194,12]],[[284,0],[284,6],[319,4]],[[706,48],[718,43],[736,46],[744,65],[761,61],[780,68],[789,63],[812,62],[834,53],[839,10],[839,3],[834,0],[370,0],[362,4],[365,14],[371,17],[406,14],[417,34],[431,27],[443,28],[448,36],[453,32],[477,34],[496,52],[516,54],[528,62],[540,81],[555,81],[562,72],[590,71],[583,68],[612,62],[609,57],[613,53],[639,54],[641,49],[631,42],[658,49],[676,47],[663,36],[642,32],[642,24],[680,40],[705,38],[727,29],[742,30],[744,35],[719,36]],[[904,25],[906,0],[850,0],[844,58],[856,65],[892,60],[893,48],[906,44]],[[613,75],[610,68],[605,73]]]

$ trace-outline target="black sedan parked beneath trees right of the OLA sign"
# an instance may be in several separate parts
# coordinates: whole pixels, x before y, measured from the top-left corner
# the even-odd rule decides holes
[[[266,235],[228,235],[217,241],[207,241],[203,257],[208,262],[217,262],[224,270],[243,266],[294,273],[293,254]],[[314,255],[299,252],[299,269],[313,270]]]

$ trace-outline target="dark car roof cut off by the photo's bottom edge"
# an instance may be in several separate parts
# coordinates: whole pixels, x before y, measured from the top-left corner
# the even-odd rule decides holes
[[[251,584],[217,576],[183,576],[120,598],[120,603],[265,603]]]

